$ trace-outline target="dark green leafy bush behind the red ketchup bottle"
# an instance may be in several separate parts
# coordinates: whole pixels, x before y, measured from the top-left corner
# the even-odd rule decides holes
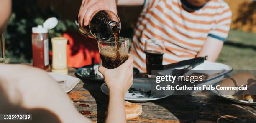
[[[13,11],[4,34],[7,54],[2,62],[31,62],[32,27],[43,25],[44,21],[50,17],[58,18],[59,23],[54,29],[49,30],[49,40],[60,37],[68,30],[77,29],[73,21],[61,19],[61,15],[52,7],[41,10],[36,0],[24,0],[22,4],[19,0],[14,0]],[[51,41],[49,41],[49,49],[51,49]]]

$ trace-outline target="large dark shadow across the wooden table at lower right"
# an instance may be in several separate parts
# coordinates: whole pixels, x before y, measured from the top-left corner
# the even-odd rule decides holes
[[[236,118],[228,118],[235,123],[255,123],[255,107],[248,105],[238,106],[236,104],[218,97],[217,95],[171,95],[161,100],[152,101],[171,114],[172,120],[179,120],[184,123],[215,123],[220,117],[218,115],[231,115]],[[254,110],[253,112],[249,111]],[[164,114],[163,114],[164,115]],[[165,114],[166,115],[166,114]],[[177,119],[176,119],[176,118]],[[220,119],[220,123],[230,123]]]

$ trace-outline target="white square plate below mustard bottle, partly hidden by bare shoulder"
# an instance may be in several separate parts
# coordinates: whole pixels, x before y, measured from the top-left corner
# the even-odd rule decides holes
[[[70,92],[80,81],[79,78],[75,78],[69,75],[62,75],[59,73],[48,72],[48,74],[54,78],[57,82],[64,81],[63,83],[58,83],[60,87],[66,92]]]

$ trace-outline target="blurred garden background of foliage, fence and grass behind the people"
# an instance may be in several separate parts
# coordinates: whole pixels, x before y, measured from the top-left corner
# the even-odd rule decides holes
[[[233,69],[256,69],[256,1],[224,0],[233,12],[231,30],[217,62]],[[4,63],[32,63],[31,28],[56,17],[58,25],[49,30],[49,39],[64,33],[77,33],[74,23],[82,0],[13,0],[13,9],[5,32]],[[132,38],[141,7],[118,7],[122,37]],[[82,40],[83,38],[79,38]],[[94,42],[94,40],[92,40]],[[93,43],[95,44],[95,42]],[[51,42],[49,40],[50,50]],[[84,45],[86,47],[86,45]]]

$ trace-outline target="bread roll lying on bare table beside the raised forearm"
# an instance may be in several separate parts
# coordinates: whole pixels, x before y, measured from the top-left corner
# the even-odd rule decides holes
[[[142,113],[142,106],[125,101],[126,120],[137,118]]]

